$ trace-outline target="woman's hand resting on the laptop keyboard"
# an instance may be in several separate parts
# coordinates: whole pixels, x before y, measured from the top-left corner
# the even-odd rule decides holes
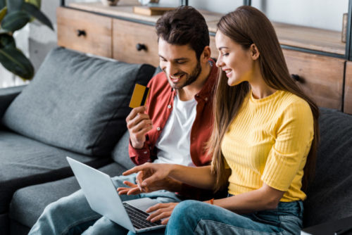
[[[150,222],[156,222],[158,220],[162,220],[161,224],[168,224],[170,220],[170,216],[172,210],[174,210],[175,206],[178,203],[158,203],[156,205],[151,206],[146,210],[147,213],[153,212],[146,220],[150,220]],[[165,219],[165,220],[163,220]]]

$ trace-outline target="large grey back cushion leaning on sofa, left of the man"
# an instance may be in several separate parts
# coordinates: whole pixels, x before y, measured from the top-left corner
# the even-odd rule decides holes
[[[134,84],[155,68],[56,48],[3,117],[13,131],[85,155],[109,155],[125,132]]]

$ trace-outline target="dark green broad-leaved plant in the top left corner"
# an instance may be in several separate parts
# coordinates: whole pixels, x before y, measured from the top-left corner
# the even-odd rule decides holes
[[[41,0],[0,0],[0,63],[25,80],[32,79],[34,68],[15,44],[13,32],[34,18],[54,30],[49,18],[39,10]]]

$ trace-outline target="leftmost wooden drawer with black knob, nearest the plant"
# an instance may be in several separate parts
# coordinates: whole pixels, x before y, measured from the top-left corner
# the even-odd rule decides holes
[[[58,8],[58,45],[111,58],[111,18]]]

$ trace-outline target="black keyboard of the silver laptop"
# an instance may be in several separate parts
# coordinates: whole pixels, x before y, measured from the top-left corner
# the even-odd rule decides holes
[[[142,210],[139,210],[137,208],[134,208],[132,205],[129,205],[128,203],[123,203],[123,205],[125,206],[127,214],[130,217],[130,220],[135,228],[144,229],[148,227],[161,225],[160,220],[153,223],[146,220],[146,217],[149,216],[148,213]]]

